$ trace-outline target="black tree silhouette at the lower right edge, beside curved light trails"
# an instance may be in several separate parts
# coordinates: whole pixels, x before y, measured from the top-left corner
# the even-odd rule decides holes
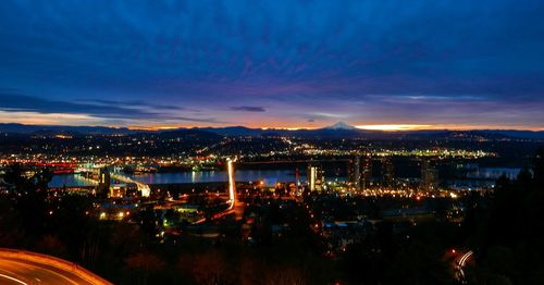
[[[477,267],[469,281],[489,284],[544,284],[544,156],[515,181],[502,176],[475,246]],[[483,231],[482,231],[483,228]]]

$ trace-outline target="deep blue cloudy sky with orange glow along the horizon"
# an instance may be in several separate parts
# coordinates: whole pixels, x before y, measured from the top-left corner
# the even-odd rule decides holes
[[[543,1],[0,1],[0,122],[544,128]]]

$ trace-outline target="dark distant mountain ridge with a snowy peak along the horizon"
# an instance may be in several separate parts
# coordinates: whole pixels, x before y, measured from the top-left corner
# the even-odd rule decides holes
[[[131,129],[126,127],[108,126],[63,126],[63,125],[25,125],[15,123],[0,123],[0,133],[32,134],[32,135],[129,135],[137,133],[169,133],[175,131],[198,131],[221,136],[298,136],[306,138],[361,138],[361,139],[544,139],[544,131],[517,131],[517,129],[474,129],[474,131],[369,131],[359,129],[345,122],[323,128],[249,128],[245,126],[227,127],[190,127],[162,131]]]

